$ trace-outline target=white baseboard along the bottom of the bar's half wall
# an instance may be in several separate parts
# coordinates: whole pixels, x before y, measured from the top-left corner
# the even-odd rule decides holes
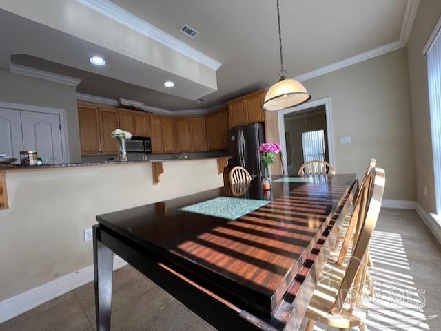
[[[118,255],[114,255],[113,269],[116,270],[127,264]],[[61,276],[36,288],[0,301],[0,323],[8,321],[23,312],[40,306],[49,300],[74,290],[81,285],[94,280],[94,266],[87,266],[68,275]]]

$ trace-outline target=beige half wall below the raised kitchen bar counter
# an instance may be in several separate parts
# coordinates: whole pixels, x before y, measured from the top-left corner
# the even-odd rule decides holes
[[[7,171],[0,211],[0,301],[92,264],[83,230],[101,213],[223,186],[216,159]]]

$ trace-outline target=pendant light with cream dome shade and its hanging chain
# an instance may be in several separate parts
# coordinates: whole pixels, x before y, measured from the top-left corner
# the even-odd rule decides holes
[[[278,111],[306,103],[311,99],[311,95],[305,87],[294,79],[287,79],[287,71],[283,66],[282,32],[280,29],[280,10],[277,1],[277,20],[278,20],[278,42],[280,46],[280,72],[279,80],[272,85],[263,103],[263,109]]]

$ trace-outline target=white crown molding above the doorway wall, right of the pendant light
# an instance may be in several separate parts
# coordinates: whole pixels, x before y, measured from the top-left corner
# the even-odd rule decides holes
[[[299,76],[294,77],[294,79],[299,82],[307,81],[308,79],[322,76],[324,74],[328,74],[329,72],[334,72],[334,71],[342,69],[344,67],[349,67],[349,65],[355,65],[356,63],[360,63],[360,62],[369,60],[369,58],[374,58],[376,56],[380,56],[382,54],[386,54],[386,53],[392,52],[394,50],[398,50],[402,47],[404,47],[404,45],[401,43],[401,41],[394,41],[393,43],[388,43],[387,45],[382,45],[380,47],[374,48],[373,50],[369,50],[369,51],[364,52],[362,54],[358,54],[356,56],[346,58],[345,60],[338,61],[336,63],[332,63],[331,65],[326,65],[325,67],[321,67],[321,68],[313,70],[311,72],[301,74]]]

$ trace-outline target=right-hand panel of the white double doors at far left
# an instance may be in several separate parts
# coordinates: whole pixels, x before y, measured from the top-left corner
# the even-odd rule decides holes
[[[35,150],[47,162],[63,162],[60,116],[57,114],[21,111],[23,147]]]

